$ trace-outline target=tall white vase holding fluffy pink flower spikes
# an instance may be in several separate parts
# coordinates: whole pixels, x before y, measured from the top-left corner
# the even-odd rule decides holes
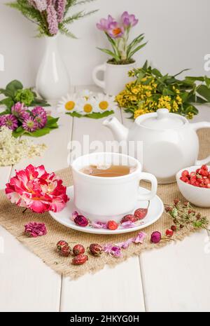
[[[70,79],[57,47],[56,36],[45,37],[45,53],[36,76],[36,90],[45,100],[58,100],[70,90]]]

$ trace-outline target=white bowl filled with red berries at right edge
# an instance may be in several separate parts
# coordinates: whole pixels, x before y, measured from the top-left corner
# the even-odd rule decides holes
[[[198,207],[210,208],[210,189],[208,188],[200,188],[199,186],[192,186],[192,184],[186,184],[183,182],[180,177],[181,173],[184,170],[188,170],[189,172],[196,171],[200,166],[190,166],[190,168],[184,168],[176,173],[176,181],[179,186],[179,190],[181,194],[193,205]],[[208,169],[210,166],[208,165]]]

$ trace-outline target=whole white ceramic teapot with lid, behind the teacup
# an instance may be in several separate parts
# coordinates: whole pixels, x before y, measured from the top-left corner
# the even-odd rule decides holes
[[[189,123],[184,116],[158,109],[139,116],[128,130],[117,118],[104,121],[116,140],[143,141],[144,171],[157,177],[160,184],[175,182],[176,172],[190,165],[207,164],[210,156],[197,161],[199,140],[196,131],[210,128],[209,122]],[[210,149],[209,149],[210,151]]]

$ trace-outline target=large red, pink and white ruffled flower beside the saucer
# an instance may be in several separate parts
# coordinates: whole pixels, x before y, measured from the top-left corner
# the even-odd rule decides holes
[[[54,172],[46,172],[43,165],[28,165],[25,170],[16,171],[5,192],[12,203],[37,213],[60,212],[69,201],[62,179]]]

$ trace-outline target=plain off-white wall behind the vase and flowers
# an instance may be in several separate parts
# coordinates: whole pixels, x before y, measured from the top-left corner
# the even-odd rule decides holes
[[[35,26],[5,2],[0,0],[0,53],[5,57],[0,87],[11,79],[34,86],[44,39],[34,38]],[[139,18],[133,36],[144,32],[148,40],[146,48],[136,56],[139,65],[148,59],[163,72],[173,74],[188,67],[192,69],[190,74],[207,74],[204,55],[210,53],[209,0],[97,0],[84,8],[99,8],[99,12],[71,25],[78,40],[64,36],[59,40],[73,84],[92,83],[92,68],[106,60],[106,55],[96,48],[106,46],[96,22],[109,13],[118,18],[125,10]]]

